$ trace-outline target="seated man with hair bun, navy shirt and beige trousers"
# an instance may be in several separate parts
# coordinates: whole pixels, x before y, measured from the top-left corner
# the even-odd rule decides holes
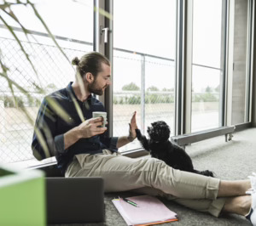
[[[256,178],[223,181],[168,167],[154,158],[132,159],[117,155],[119,147],[136,138],[136,112],[129,134],[105,136],[104,111],[91,93],[102,95],[110,85],[110,64],[102,54],[92,52],[73,59],[76,80],[47,96],[39,111],[32,140],[33,154],[40,160],[55,155],[66,177],[102,177],[106,192],[135,190],[160,195],[218,217],[221,212],[247,216],[256,225]],[[252,188],[251,188],[252,187]],[[246,195],[250,189],[251,195]]]

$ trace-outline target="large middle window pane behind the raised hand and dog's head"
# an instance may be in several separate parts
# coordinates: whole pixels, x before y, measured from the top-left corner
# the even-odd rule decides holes
[[[145,135],[150,123],[159,120],[174,130],[175,2],[113,1],[115,136],[128,133],[134,110],[138,127]],[[135,141],[121,151],[140,147]]]

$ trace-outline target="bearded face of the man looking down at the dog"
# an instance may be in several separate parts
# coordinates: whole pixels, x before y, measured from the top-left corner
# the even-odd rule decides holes
[[[89,92],[101,96],[105,88],[111,84],[110,74],[110,66],[102,63],[102,71],[98,73],[96,79],[88,86]]]

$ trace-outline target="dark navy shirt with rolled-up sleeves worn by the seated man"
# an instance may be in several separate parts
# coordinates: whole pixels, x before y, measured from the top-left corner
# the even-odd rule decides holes
[[[64,133],[92,117],[93,111],[105,111],[102,102],[90,95],[81,102],[73,92],[72,82],[67,88],[46,96],[38,110],[32,138],[33,155],[38,160],[56,157],[58,167],[65,172],[74,155],[102,153],[103,149],[117,151],[117,137],[105,133],[91,138],[80,138],[64,150]]]

